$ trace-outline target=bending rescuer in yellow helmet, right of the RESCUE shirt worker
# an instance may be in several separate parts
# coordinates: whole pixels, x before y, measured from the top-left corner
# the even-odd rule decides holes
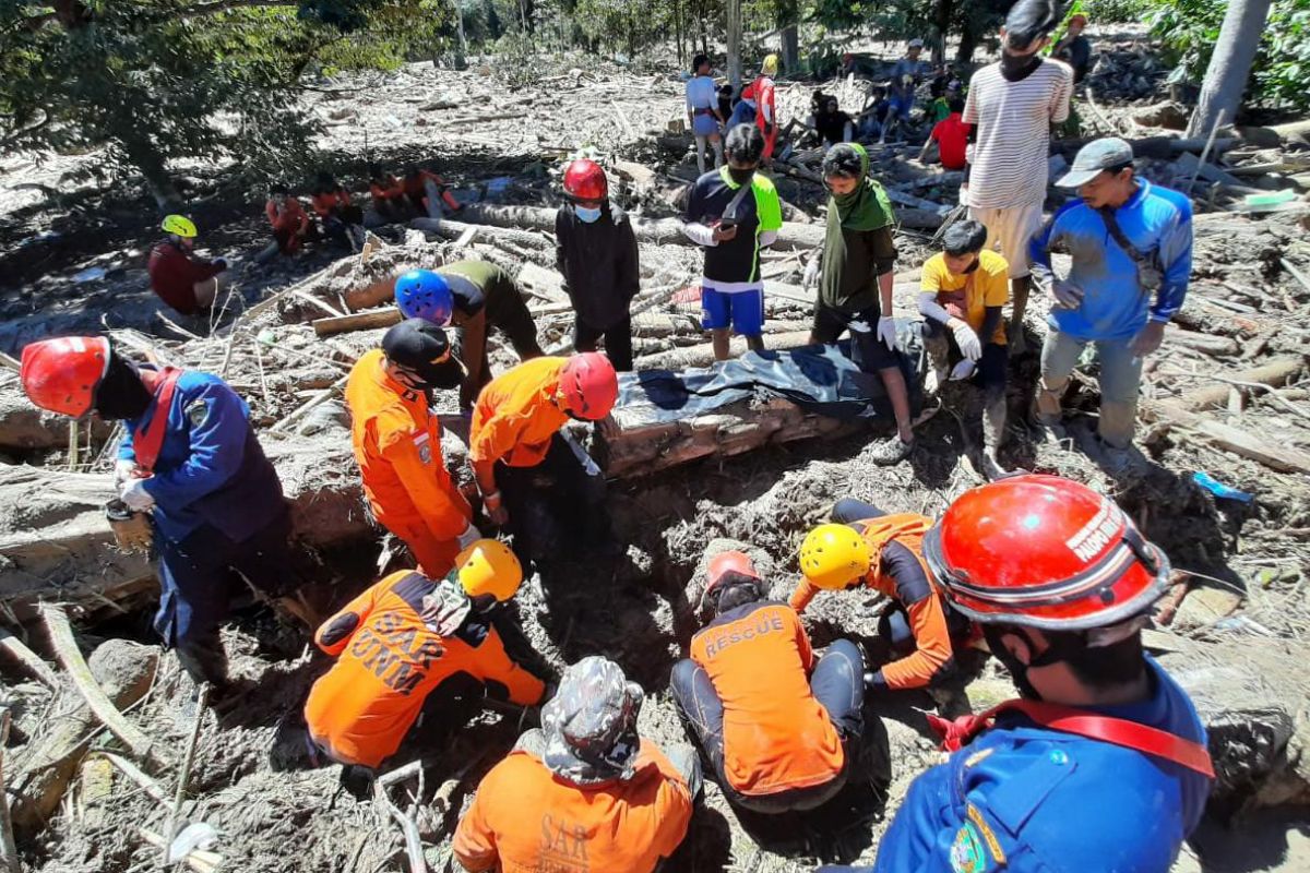
[[[803,577],[791,609],[803,613],[820,590],[871,588],[892,599],[878,632],[903,657],[870,673],[870,690],[921,688],[950,675],[951,639],[965,636],[969,622],[943,602],[931,582],[924,534],[933,520],[887,514],[849,497],[837,501],[832,518],[838,524],[815,527],[800,546]]]

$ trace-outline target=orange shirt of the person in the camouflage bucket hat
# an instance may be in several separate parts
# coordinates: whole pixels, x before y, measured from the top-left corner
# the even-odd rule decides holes
[[[572,785],[519,750],[478,785],[455,831],[455,856],[478,873],[651,873],[690,819],[690,789],[646,739],[631,779],[597,787]]]

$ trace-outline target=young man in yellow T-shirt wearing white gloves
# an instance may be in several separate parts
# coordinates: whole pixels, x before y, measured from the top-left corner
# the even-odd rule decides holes
[[[960,221],[942,236],[942,251],[924,264],[918,312],[927,319],[927,353],[938,385],[973,378],[982,387],[982,474],[1005,470],[996,452],[1005,437],[1005,325],[1010,300],[1009,264],[984,250],[986,228]],[[952,366],[954,364],[954,366]]]

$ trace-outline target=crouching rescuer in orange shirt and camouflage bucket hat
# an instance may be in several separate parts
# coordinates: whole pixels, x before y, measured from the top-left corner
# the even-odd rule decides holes
[[[642,688],[613,661],[570,666],[541,729],[478,785],[455,831],[469,873],[651,873],[686,836],[701,789],[696,750],[665,757],[637,733]]]

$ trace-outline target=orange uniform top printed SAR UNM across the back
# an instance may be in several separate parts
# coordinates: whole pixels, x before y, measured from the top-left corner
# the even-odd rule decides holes
[[[400,747],[427,695],[457,673],[499,682],[519,705],[541,700],[541,679],[510,660],[494,627],[472,645],[423,623],[423,597],[436,585],[411,571],[392,573],[314,635],[338,660],[309,690],[305,724],[335,760],[377,767]]]

